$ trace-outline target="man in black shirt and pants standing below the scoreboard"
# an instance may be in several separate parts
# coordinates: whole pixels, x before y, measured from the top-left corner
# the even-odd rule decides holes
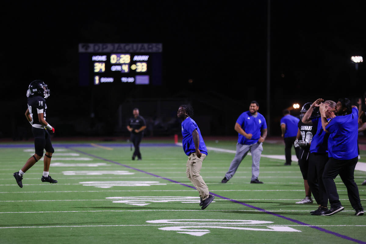
[[[135,160],[137,156],[137,160],[141,160],[140,153],[140,142],[143,136],[143,130],[146,128],[145,119],[139,115],[138,108],[133,109],[134,117],[130,118],[130,121],[127,125],[128,131],[131,132],[131,142],[134,143],[135,151],[132,155],[132,160]]]

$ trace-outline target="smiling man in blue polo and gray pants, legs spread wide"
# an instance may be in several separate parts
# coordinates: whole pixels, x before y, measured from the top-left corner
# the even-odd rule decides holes
[[[263,115],[258,113],[258,102],[252,101],[249,111],[242,113],[235,123],[235,131],[238,132],[238,144],[236,144],[236,154],[232,160],[228,172],[221,183],[230,180],[244,157],[251,152],[252,155],[252,177],[250,183],[263,183],[258,180],[259,161],[263,151],[263,142],[267,136],[267,124]]]

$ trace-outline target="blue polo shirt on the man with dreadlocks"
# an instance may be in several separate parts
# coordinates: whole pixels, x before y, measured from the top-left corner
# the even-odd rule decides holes
[[[192,136],[192,133],[195,129],[197,129],[199,135],[198,149],[199,151],[201,151],[201,153],[207,155],[207,148],[205,142],[203,141],[201,131],[199,131],[196,122],[193,119],[191,119],[191,117],[188,117],[187,119],[182,121],[182,136],[183,136],[182,144],[184,153],[186,153],[189,156],[191,153],[196,152]]]

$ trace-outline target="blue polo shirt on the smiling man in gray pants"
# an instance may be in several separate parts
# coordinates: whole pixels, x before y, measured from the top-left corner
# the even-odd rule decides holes
[[[245,136],[238,133],[238,143],[243,145],[251,145],[257,143],[261,136],[261,130],[267,128],[264,116],[258,112],[257,117],[253,117],[253,115],[249,111],[246,111],[239,116],[239,118],[236,120],[236,123],[240,124],[242,129],[247,134],[253,135],[252,138],[248,140]]]

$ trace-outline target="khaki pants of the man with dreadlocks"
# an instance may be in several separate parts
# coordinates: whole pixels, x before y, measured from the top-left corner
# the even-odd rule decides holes
[[[203,181],[202,176],[199,175],[199,172],[201,171],[202,168],[202,162],[206,158],[206,156],[207,156],[206,154],[202,153],[201,158],[198,158],[196,156],[196,153],[191,153],[188,156],[187,170],[186,170],[187,178],[198,190],[199,196],[202,198],[202,200],[205,200],[206,198],[209,197],[208,187],[205,181]]]

